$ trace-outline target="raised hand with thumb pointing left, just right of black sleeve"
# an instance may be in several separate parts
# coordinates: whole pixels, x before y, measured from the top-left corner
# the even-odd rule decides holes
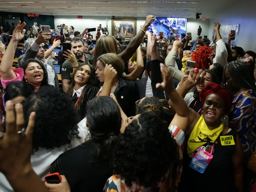
[[[161,88],[165,90],[166,93],[169,93],[173,87],[173,76],[170,70],[164,65],[163,63],[160,64],[161,66],[161,73],[163,75],[163,82],[157,83],[156,88]]]

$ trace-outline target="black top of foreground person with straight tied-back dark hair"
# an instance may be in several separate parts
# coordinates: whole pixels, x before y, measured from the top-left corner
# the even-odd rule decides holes
[[[107,159],[96,165],[92,161],[90,146],[82,144],[61,154],[51,164],[51,173],[65,175],[71,192],[101,192],[112,170]]]

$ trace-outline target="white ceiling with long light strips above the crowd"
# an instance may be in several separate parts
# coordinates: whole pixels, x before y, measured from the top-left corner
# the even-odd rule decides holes
[[[1,0],[2,1],[2,0]],[[47,1],[9,0],[0,2],[0,11],[32,13],[39,15],[88,15],[117,17],[179,17],[212,18],[230,4],[239,0],[197,0],[194,1]]]

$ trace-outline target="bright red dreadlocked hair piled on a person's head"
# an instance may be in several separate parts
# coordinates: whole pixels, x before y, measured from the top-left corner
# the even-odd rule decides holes
[[[192,61],[196,62],[196,67],[198,69],[209,69],[209,63],[211,63],[211,58],[214,56],[212,49],[210,47],[202,46],[199,50],[192,53]]]

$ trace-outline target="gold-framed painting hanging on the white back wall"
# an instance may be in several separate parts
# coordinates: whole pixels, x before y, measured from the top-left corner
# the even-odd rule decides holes
[[[112,36],[119,32],[125,39],[131,39],[137,34],[137,19],[111,19]]]

